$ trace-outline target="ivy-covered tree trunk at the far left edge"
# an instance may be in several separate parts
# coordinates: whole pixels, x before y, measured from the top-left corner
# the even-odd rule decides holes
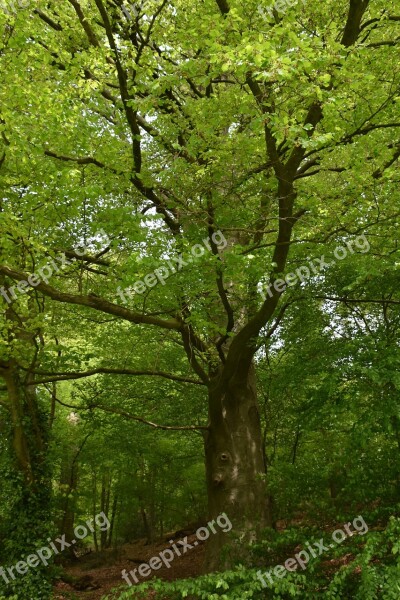
[[[36,552],[38,540],[51,533],[51,473],[47,458],[48,422],[40,410],[30,377],[10,360],[1,368],[8,392],[10,451],[15,466],[15,486],[10,512],[4,518],[6,536],[1,548],[5,567],[21,560],[21,552]],[[34,586],[40,597],[50,597],[52,574],[42,564],[24,577],[9,578],[7,594],[28,598]],[[0,582],[0,588],[3,581]],[[2,589],[0,589],[1,596]]]

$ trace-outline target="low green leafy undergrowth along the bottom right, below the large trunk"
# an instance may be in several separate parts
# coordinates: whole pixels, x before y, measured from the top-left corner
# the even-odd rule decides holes
[[[291,529],[277,535],[272,532],[255,550],[262,553],[268,548],[268,558],[260,569],[238,566],[232,571],[206,575],[195,580],[173,583],[152,580],[127,591],[116,590],[104,600],[128,600],[145,598],[151,590],[154,598],[179,600],[182,598],[240,600],[241,598],[310,598],[322,596],[332,600],[375,600],[378,598],[396,599],[399,595],[400,575],[400,519],[391,517],[384,531],[369,531],[362,542],[357,536],[347,539],[341,545],[322,556],[311,559],[306,570],[286,571],[284,578],[273,577],[273,583],[263,587],[257,577],[259,571],[281,564],[293,556],[313,536],[316,529]],[[318,538],[321,535],[318,536]],[[152,596],[153,597],[153,596]]]

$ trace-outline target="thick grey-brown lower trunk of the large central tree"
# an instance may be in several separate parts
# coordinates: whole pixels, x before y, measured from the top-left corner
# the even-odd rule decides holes
[[[240,552],[270,524],[265,483],[265,464],[254,367],[228,382],[218,378],[209,390],[209,430],[205,434],[209,516],[226,513],[240,536]],[[227,534],[216,526],[210,534],[205,569],[228,567],[238,556],[236,544],[221,560]]]

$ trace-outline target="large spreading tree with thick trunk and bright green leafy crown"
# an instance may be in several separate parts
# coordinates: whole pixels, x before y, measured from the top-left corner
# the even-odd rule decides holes
[[[209,514],[227,512],[236,532],[254,539],[271,522],[255,383],[260,334],[273,335],[284,318],[282,277],[307,253],[395,218],[400,19],[394,3],[369,0],[288,6],[274,22],[256,2],[190,6],[50,2],[19,21],[8,69],[17,64],[13,77],[24,82],[19,152],[68,190],[68,217],[55,217],[48,242],[67,221],[75,242],[82,223],[94,234],[96,221],[114,240],[108,282],[90,271],[97,253],[83,279],[71,273],[73,291],[57,276],[58,286],[41,281],[37,292],[180,344],[194,375],[125,372],[204,387],[209,421],[197,428]],[[8,140],[10,100],[5,112]],[[36,120],[29,130],[26,115]],[[179,256],[195,244],[207,251],[184,264]],[[178,258],[168,282],[118,295],[110,275],[121,292],[159,268],[157,254]],[[16,259],[6,262],[7,281],[27,279]],[[208,568],[223,542],[210,538]]]

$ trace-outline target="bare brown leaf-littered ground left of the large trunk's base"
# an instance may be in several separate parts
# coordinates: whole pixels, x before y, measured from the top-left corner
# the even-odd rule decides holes
[[[187,535],[187,532],[185,534]],[[169,547],[168,540],[171,537],[174,536],[168,536],[168,538],[153,544],[146,544],[146,540],[138,540],[132,544],[125,544],[118,550],[106,550],[80,557],[73,563],[64,566],[64,572],[67,574],[64,579],[70,576],[73,578],[73,584],[62,580],[58,581],[54,586],[53,599],[100,600],[118,586],[124,586],[123,590],[128,589],[128,584],[122,579],[121,571],[126,569],[129,572],[137,569],[142,563],[148,563],[153,556],[157,556]],[[180,536],[176,539],[183,539],[183,537]],[[188,536],[189,543],[196,539],[195,535]],[[182,556],[175,557],[169,569],[163,565],[161,569],[153,571],[150,577],[144,579],[138,575],[138,579],[140,583],[143,583],[152,578],[173,581],[198,577],[201,574],[203,559],[204,543],[199,542],[196,547],[188,550]],[[149,595],[148,598],[151,597]]]

